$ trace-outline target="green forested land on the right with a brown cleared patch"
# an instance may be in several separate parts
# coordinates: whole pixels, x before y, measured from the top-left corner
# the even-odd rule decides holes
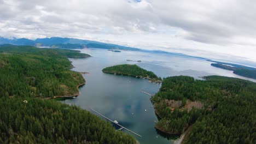
[[[255,143],[256,83],[223,76],[167,77],[152,98],[167,134],[191,131],[183,143]]]

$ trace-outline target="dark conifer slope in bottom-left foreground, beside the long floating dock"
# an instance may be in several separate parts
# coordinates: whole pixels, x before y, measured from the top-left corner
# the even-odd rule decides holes
[[[0,143],[136,143],[100,117],[54,100],[0,97],[0,116]]]

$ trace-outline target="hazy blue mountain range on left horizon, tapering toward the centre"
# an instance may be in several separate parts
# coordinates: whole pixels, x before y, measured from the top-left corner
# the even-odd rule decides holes
[[[52,38],[43,38],[43,39],[7,39],[0,37],[0,45],[1,44],[13,44],[13,45],[32,45],[32,46],[47,46],[52,48],[60,48],[60,49],[83,49],[83,48],[100,48],[100,49],[115,49],[115,50],[130,50],[130,51],[138,51],[140,49],[134,47],[127,47],[115,44],[107,44],[101,43],[98,41],[92,40],[83,40],[83,39],[74,39],[74,38],[60,38],[60,37],[52,37]]]

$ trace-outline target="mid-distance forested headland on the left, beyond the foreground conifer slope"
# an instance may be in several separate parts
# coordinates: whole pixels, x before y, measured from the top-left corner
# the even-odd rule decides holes
[[[1,96],[78,95],[77,86],[85,82],[80,73],[70,70],[65,57],[79,56],[78,51],[4,46],[0,52]]]

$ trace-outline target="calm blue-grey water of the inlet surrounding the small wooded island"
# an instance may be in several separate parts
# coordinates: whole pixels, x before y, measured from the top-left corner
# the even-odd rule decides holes
[[[103,68],[127,63],[137,64],[161,77],[174,75],[188,75],[196,79],[206,75],[242,77],[233,74],[232,71],[212,67],[211,62],[198,58],[134,51],[112,52],[102,49],[84,49],[82,52],[92,57],[70,58],[70,60],[75,67],[73,70],[89,73],[83,74],[86,85],[80,88],[80,94],[76,99],[66,99],[63,103],[78,105],[88,111],[91,111],[91,107],[113,121],[118,121],[124,127],[142,135],[142,137],[134,135],[140,143],[171,143],[166,136],[161,136],[155,130],[154,121],[158,121],[158,118],[149,100],[150,97],[140,92],[155,94],[161,85],[149,83],[146,79],[104,74],[101,71]],[[127,59],[142,62],[126,61]],[[124,129],[123,131],[131,134]]]

